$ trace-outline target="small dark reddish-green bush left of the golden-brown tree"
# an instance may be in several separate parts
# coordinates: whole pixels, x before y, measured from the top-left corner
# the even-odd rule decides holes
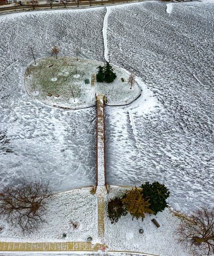
[[[108,202],[108,217],[110,218],[111,223],[118,222],[121,216],[125,216],[127,211],[122,204],[122,201],[119,197],[116,197]]]

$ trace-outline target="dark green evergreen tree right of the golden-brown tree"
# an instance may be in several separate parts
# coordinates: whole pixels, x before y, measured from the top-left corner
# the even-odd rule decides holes
[[[166,206],[166,198],[169,197],[169,190],[165,185],[160,184],[159,182],[153,182],[149,184],[146,182],[141,185],[143,198],[148,200],[150,203],[150,209],[156,215],[158,211],[163,211]]]

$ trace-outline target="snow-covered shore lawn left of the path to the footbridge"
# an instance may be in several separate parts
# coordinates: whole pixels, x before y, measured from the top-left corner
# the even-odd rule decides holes
[[[98,238],[97,197],[90,193],[91,188],[58,193],[48,199],[47,214],[38,231],[22,234],[18,227],[12,227],[0,219],[0,241],[93,241]],[[74,229],[71,222],[77,222]],[[62,237],[65,233],[67,236]]]

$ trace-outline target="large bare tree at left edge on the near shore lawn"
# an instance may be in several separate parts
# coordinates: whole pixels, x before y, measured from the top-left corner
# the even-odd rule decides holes
[[[23,232],[32,232],[45,222],[43,215],[51,191],[47,185],[39,182],[23,183],[6,186],[0,193],[0,214],[15,226],[20,226]]]

